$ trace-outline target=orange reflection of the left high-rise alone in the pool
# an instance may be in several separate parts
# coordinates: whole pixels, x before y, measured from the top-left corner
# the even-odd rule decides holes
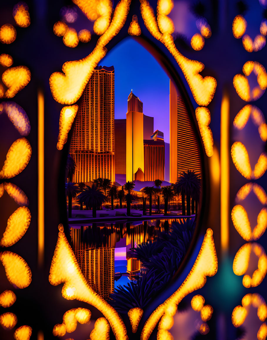
[[[74,254],[89,286],[101,297],[108,299],[109,294],[114,290],[116,234],[109,235],[106,246],[94,248],[93,244],[87,242],[87,230],[87,227],[85,227],[85,231],[83,228],[72,228]]]

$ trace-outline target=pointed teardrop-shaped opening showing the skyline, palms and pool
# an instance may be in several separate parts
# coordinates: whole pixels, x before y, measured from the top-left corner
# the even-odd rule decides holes
[[[149,290],[137,303],[144,309],[167,287],[195,232],[199,137],[176,83],[124,39],[95,68],[74,122],[73,250],[88,284],[122,314],[136,307],[132,288]]]

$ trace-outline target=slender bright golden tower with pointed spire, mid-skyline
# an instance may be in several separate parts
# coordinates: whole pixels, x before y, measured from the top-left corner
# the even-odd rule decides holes
[[[126,114],[126,182],[144,181],[143,103],[132,92]]]

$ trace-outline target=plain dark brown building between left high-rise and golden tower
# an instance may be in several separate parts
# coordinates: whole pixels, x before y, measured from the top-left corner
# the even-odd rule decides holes
[[[126,174],[126,119],[115,119],[115,173]]]

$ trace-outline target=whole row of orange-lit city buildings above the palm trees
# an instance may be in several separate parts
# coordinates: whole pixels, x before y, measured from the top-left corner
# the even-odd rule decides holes
[[[76,164],[72,181],[176,183],[183,171],[201,173],[197,140],[174,83],[170,80],[169,145],[162,131],[154,131],[154,117],[144,115],[143,102],[132,90],[126,118],[114,119],[114,74],[113,66],[97,66],[86,85],[70,144]]]

